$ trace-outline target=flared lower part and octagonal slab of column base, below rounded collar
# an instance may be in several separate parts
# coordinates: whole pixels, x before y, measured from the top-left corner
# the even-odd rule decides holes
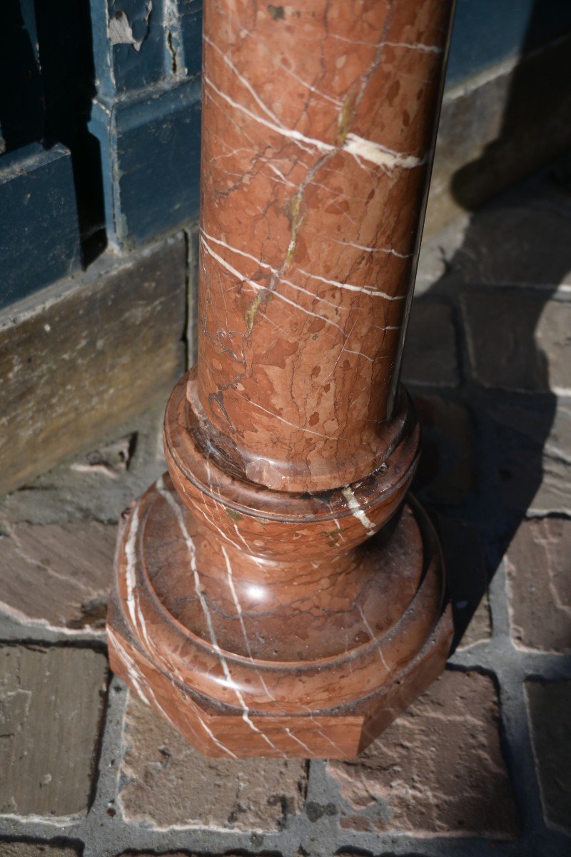
[[[297,566],[292,579],[260,563],[255,578],[252,557],[233,568],[165,476],[120,536],[111,668],[206,756],[354,758],[437,678],[452,621],[413,500],[347,557],[306,590]],[[332,601],[339,578],[344,605]],[[246,604],[261,582],[275,601]]]

